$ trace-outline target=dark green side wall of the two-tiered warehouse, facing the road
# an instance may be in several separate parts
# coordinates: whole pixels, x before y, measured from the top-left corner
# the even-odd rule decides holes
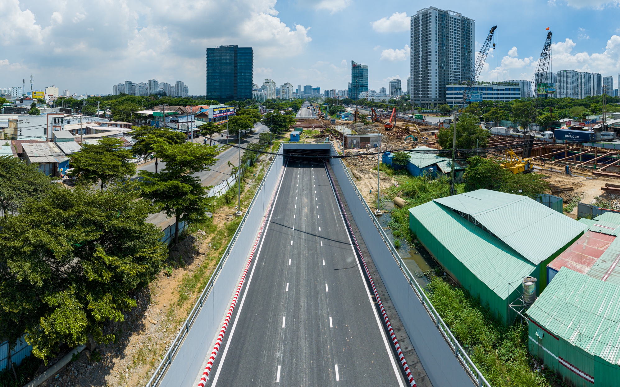
[[[426,248],[428,253],[441,264],[448,272],[449,276],[458,280],[460,285],[463,286],[472,297],[480,297],[480,302],[482,302],[483,305],[488,302],[490,311],[498,320],[503,321],[505,324],[510,324],[513,321],[516,314],[508,313],[508,304],[521,295],[520,285],[514,290],[511,289],[508,299],[503,299],[469,271],[469,269],[450,253],[412,214],[409,214],[409,227],[415,232],[418,240],[422,243],[424,248]],[[539,269],[537,266],[532,275],[535,275],[538,271]]]

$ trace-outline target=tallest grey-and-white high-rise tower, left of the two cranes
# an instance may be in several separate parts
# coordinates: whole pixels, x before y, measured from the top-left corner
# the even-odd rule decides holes
[[[476,24],[435,7],[411,17],[410,97],[422,107],[446,103],[446,84],[471,79]]]

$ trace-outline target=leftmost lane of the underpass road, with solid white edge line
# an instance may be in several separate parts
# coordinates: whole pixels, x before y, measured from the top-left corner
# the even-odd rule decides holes
[[[286,292],[286,276],[292,266],[287,259],[293,228],[288,219],[291,211],[280,202],[290,202],[287,199],[292,186],[293,175],[285,169],[255,267],[243,290],[246,300],[234,312],[234,331],[224,336],[220,347],[224,352],[220,350],[213,365],[212,386],[265,386],[275,381],[283,346],[282,311],[290,294]]]

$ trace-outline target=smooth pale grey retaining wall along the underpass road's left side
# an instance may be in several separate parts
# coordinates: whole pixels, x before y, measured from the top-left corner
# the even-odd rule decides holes
[[[259,231],[262,217],[272,197],[273,190],[277,186],[281,168],[282,156],[278,155],[263,179],[261,188],[255,194],[252,207],[239,225],[237,234],[231,241],[232,246],[227,249],[228,254],[224,253],[223,265],[219,273],[216,273],[213,287],[206,295],[191,329],[188,330],[174,355],[172,363],[161,380],[161,386],[193,387],[196,377],[201,373],[202,363],[207,353],[212,349],[211,341],[220,328],[232,293],[239,281],[239,276],[241,276],[250,250],[252,250],[252,243],[254,243]],[[165,361],[166,359],[164,359]],[[156,382],[153,380],[150,385],[156,385]]]

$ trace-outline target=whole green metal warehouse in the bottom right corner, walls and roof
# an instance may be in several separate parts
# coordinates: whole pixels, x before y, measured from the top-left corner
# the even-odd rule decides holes
[[[529,352],[565,381],[620,385],[620,285],[562,267],[528,318]]]

